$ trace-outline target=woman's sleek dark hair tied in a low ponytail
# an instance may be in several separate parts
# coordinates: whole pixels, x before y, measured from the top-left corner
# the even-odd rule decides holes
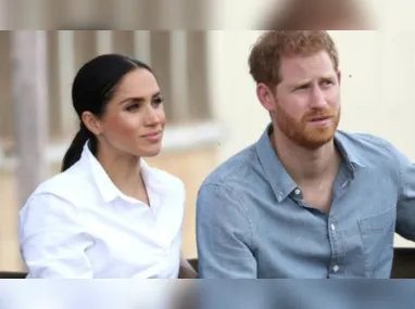
[[[91,152],[97,154],[97,138],[85,126],[81,115],[84,112],[90,112],[97,117],[102,117],[122,78],[136,68],[144,68],[152,73],[146,63],[121,54],[99,55],[79,68],[72,86],[72,103],[79,117],[80,128],[63,158],[62,171],[79,160],[88,140]]]

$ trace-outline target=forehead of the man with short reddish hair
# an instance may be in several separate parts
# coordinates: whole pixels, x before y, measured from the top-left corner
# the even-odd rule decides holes
[[[332,61],[327,52],[320,51],[306,56],[282,57],[281,82],[297,82],[336,75]]]

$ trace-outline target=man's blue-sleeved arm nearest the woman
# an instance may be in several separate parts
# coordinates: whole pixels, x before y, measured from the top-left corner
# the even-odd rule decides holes
[[[205,184],[200,189],[197,242],[202,279],[256,279],[251,218],[230,188]]]

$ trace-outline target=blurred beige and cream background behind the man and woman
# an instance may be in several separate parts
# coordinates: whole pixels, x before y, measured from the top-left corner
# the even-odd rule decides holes
[[[309,0],[307,20],[302,0],[257,2],[0,0],[0,270],[24,270],[17,213],[40,181],[59,172],[78,129],[72,81],[98,54],[136,56],[160,79],[168,126],[162,154],[149,162],[186,184],[188,258],[197,257],[199,185],[268,124],[248,70],[262,30],[249,29],[331,29],[343,77],[340,128],[388,139],[415,160],[415,1],[340,8],[342,0]],[[65,30],[7,30],[13,27]],[[415,247],[398,236],[395,246]]]

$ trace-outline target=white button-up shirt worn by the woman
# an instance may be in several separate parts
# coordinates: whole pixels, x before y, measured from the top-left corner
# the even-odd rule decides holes
[[[123,194],[88,146],[20,213],[27,278],[177,278],[185,186],[141,159],[150,205]]]

